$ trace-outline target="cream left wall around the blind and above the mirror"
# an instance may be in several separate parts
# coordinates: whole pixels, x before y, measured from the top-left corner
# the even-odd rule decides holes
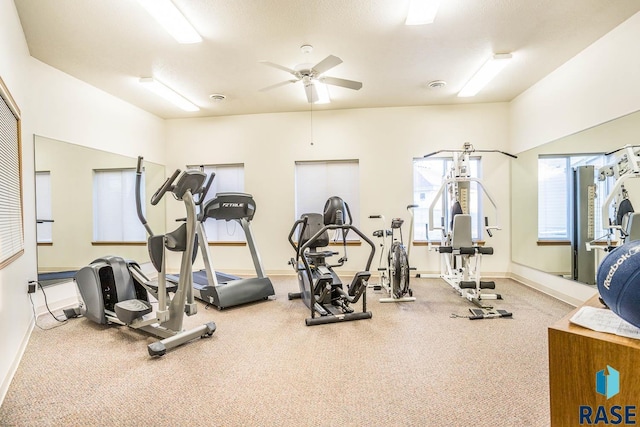
[[[24,255],[0,270],[2,402],[33,328],[26,292],[37,277],[33,135],[163,163],[165,130],[161,119],[31,58],[11,0],[0,0],[0,77],[22,113],[25,233]]]

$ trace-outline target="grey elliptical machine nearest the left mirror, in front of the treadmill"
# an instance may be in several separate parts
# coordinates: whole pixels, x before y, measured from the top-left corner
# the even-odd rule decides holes
[[[178,169],[167,178],[151,198],[151,204],[157,205],[165,193],[171,192],[177,200],[184,202],[187,218],[176,230],[155,235],[142,214],[142,160],[142,157],[138,157],[136,207],[138,217],[149,234],[147,247],[158,278],[150,280],[135,262],[107,256],[81,268],[74,280],[80,293],[79,311],[82,315],[96,323],[127,325],[162,338],[148,345],[149,355],[162,356],[167,349],[198,337],[210,337],[216,330],[214,322],[190,330],[182,329],[185,313],[188,316],[197,313],[191,276],[197,221],[192,194],[201,189],[206,175],[195,170],[181,173]],[[182,252],[177,283],[167,282],[167,250]],[[149,294],[157,300],[155,312]]]

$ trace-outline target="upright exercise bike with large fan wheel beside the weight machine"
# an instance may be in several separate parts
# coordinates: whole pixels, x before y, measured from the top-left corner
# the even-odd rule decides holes
[[[417,205],[407,206],[407,210],[411,213],[412,227],[410,233],[413,230],[413,208]],[[383,227],[386,224],[384,215],[370,215],[371,219],[381,219]],[[373,285],[374,290],[384,290],[387,293],[387,297],[380,298],[380,302],[411,302],[415,301],[413,296],[413,290],[409,286],[410,270],[409,256],[407,248],[404,245],[402,238],[402,224],[404,220],[402,218],[393,218],[391,220],[391,228],[376,230],[373,232],[374,237],[378,237],[382,243],[380,247],[380,259],[378,261],[378,273],[379,282]],[[398,232],[400,240],[396,237],[395,233]],[[391,245],[387,248],[387,240],[391,239]],[[412,236],[409,236],[409,245],[411,245]],[[386,255],[386,266],[383,266],[384,258]]]

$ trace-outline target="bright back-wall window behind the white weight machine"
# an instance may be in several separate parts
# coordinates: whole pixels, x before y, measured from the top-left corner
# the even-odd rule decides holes
[[[453,159],[450,157],[429,157],[413,160],[413,203],[419,207],[414,209],[413,239],[416,241],[427,240],[427,227],[429,222],[429,208],[434,201],[438,190],[451,168]],[[480,178],[480,158],[469,159],[469,174],[472,178]],[[448,212],[453,201],[449,195],[443,192],[433,209],[434,226],[441,226],[451,221]],[[482,206],[478,199],[478,184],[471,182],[469,194],[469,210],[471,214],[472,238],[479,240],[482,236]],[[441,241],[442,231],[428,231],[430,241]]]

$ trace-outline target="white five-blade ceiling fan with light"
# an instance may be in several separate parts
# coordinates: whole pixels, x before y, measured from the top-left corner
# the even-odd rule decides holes
[[[320,98],[318,96],[318,89],[316,84],[325,83],[333,86],[340,86],[347,89],[359,90],[362,87],[361,82],[356,82],[354,80],[346,80],[340,79],[337,77],[329,77],[325,76],[324,73],[332,69],[333,67],[342,64],[342,59],[337,56],[329,55],[322,61],[318,62],[316,65],[309,67],[309,64],[302,64],[299,66],[300,69],[291,69],[285,67],[283,65],[274,64],[269,61],[260,61],[261,64],[268,65],[270,67],[277,68],[282,71],[286,71],[287,73],[293,75],[295,79],[286,80],[284,82],[276,83],[271,86],[267,86],[263,89],[260,89],[261,92],[275,89],[280,86],[285,86],[289,83],[297,83],[302,81],[304,85],[304,91],[307,95],[307,101],[310,103],[317,102]],[[298,68],[298,67],[296,67]]]

